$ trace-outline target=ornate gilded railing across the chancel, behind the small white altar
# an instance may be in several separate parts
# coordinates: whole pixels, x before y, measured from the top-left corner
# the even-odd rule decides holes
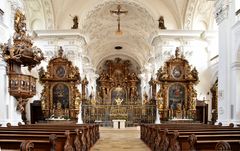
[[[126,126],[154,123],[155,105],[82,105],[84,123],[99,122],[101,126],[112,126],[112,120],[126,120]]]

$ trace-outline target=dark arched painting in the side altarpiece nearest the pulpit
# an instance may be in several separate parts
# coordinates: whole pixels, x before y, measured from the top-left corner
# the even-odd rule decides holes
[[[53,105],[57,108],[57,104],[61,104],[62,109],[69,108],[69,89],[68,86],[58,83],[53,87]]]

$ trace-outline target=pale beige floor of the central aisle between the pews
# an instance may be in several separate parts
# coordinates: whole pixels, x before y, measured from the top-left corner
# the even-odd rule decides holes
[[[137,127],[123,130],[100,127],[100,139],[91,151],[150,151],[140,139]]]

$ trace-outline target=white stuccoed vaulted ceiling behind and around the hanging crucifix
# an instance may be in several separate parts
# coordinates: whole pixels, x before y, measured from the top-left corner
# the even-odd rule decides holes
[[[98,69],[106,59],[130,59],[139,69],[152,57],[152,39],[161,30],[164,16],[168,30],[212,30],[212,0],[23,0],[32,30],[71,29],[78,16],[80,32],[86,39],[86,55]],[[128,11],[120,15],[122,35],[117,35],[117,15],[110,10]],[[121,46],[122,49],[115,49]]]

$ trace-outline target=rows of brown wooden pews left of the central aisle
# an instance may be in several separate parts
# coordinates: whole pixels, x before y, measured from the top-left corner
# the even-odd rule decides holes
[[[16,148],[23,139],[29,139],[35,144],[34,150],[41,150],[41,146],[45,148],[42,150],[50,150],[53,148],[49,141],[49,136],[55,134],[56,141],[55,150],[89,150],[99,139],[98,125],[20,125],[0,127],[0,142],[8,144]],[[14,139],[15,136],[17,140]],[[0,146],[2,145],[0,143]],[[44,144],[44,145],[43,145]],[[47,145],[48,144],[48,145]],[[7,145],[7,146],[8,146]]]

